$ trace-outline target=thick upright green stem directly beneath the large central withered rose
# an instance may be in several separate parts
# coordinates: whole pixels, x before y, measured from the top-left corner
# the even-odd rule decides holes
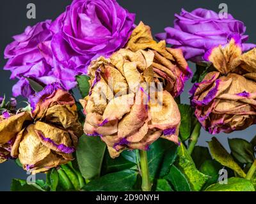
[[[141,189],[142,191],[151,191],[152,184],[150,182],[149,172],[148,172],[147,151],[140,150],[140,167],[141,167],[141,177],[142,177]]]

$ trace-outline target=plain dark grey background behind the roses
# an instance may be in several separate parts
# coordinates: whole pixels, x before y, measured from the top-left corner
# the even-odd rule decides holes
[[[205,1],[205,0],[117,0],[124,8],[130,12],[136,13],[136,23],[143,21],[152,27],[152,33],[163,32],[164,27],[173,25],[174,13],[179,13],[181,8],[191,11],[195,8],[207,8],[219,11],[220,3],[228,5],[228,13],[235,18],[242,20],[247,27],[247,34],[250,35],[250,42],[256,43],[255,26],[255,0],[225,0],[225,1]],[[6,45],[12,42],[12,36],[22,33],[26,26],[34,25],[46,19],[55,19],[65,10],[65,6],[70,4],[71,0],[1,0],[0,4],[0,96],[6,94],[6,98],[12,96],[12,85],[15,81],[10,80],[10,72],[3,71],[6,61],[3,58],[3,51]],[[26,18],[26,5],[28,3],[36,4],[36,19]],[[194,68],[193,64],[190,64]],[[186,84],[182,94],[182,102],[189,103],[188,91],[191,83]],[[255,135],[255,126],[245,131],[237,131],[229,135],[220,134],[217,138],[227,147],[227,138],[243,137],[251,140]],[[207,146],[206,141],[211,140],[211,135],[202,131],[198,144]],[[19,168],[14,161],[8,161],[0,164],[0,191],[9,191],[10,183],[13,178],[26,179],[26,171]],[[44,175],[36,175],[38,178],[44,178]]]

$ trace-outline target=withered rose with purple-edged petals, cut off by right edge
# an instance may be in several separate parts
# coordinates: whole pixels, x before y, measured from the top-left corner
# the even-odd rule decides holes
[[[195,115],[211,134],[248,128],[256,123],[256,49],[243,54],[241,42],[211,50],[216,71],[191,89]]]

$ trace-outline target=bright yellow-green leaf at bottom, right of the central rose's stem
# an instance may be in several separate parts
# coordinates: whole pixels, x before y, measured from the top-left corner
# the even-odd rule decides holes
[[[193,159],[188,154],[188,151],[184,147],[183,143],[178,148],[178,160],[177,167],[184,173],[189,181],[191,189],[193,191],[200,191],[205,182],[209,179],[209,176],[201,173],[196,169],[196,165]]]

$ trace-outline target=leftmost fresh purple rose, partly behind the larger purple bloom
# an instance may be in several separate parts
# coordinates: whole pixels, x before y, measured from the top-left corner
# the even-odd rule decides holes
[[[55,80],[51,79],[51,50],[46,52],[44,49],[45,44],[51,42],[50,25],[51,20],[46,20],[33,27],[26,27],[24,33],[13,36],[15,41],[5,48],[4,57],[8,62],[4,69],[12,71],[11,79],[19,79],[19,82],[13,86],[13,96],[28,97],[33,94],[26,77],[33,78],[42,84]]]

